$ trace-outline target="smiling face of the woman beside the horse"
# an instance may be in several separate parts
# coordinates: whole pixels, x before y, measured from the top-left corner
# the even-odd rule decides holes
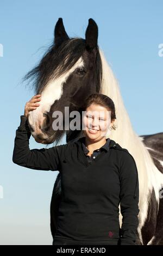
[[[111,111],[101,105],[92,103],[86,108],[83,117],[84,133],[92,141],[98,141],[106,136],[111,122]]]

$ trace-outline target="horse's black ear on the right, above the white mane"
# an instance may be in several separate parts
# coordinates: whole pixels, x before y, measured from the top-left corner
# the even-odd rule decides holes
[[[98,27],[93,19],[89,19],[89,25],[85,32],[86,48],[92,50],[97,47]]]

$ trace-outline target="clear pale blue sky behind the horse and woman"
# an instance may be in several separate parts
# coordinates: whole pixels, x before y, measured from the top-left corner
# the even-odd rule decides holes
[[[160,0],[1,0],[0,244],[52,244],[49,206],[58,171],[16,166],[12,151],[20,115],[34,95],[21,79],[51,44],[58,18],[64,20],[69,36],[83,38],[89,18],[97,22],[99,46],[120,84],[133,128],[138,135],[149,135],[163,131],[163,57],[158,54],[163,44],[162,14]],[[31,138],[30,148],[43,145]]]

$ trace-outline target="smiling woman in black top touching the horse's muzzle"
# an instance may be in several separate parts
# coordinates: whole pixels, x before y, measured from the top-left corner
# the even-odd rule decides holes
[[[83,137],[49,149],[30,150],[28,114],[40,100],[41,95],[35,95],[26,103],[16,130],[12,161],[32,169],[59,170],[61,174],[53,245],[135,245],[139,180],[133,156],[106,138],[108,128],[116,129],[114,102],[106,95],[91,94],[83,107]]]

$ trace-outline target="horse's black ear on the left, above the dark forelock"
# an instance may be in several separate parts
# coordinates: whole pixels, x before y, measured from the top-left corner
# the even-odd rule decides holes
[[[54,29],[54,43],[55,45],[61,44],[63,41],[68,40],[69,37],[65,31],[62,18],[59,18]]]

